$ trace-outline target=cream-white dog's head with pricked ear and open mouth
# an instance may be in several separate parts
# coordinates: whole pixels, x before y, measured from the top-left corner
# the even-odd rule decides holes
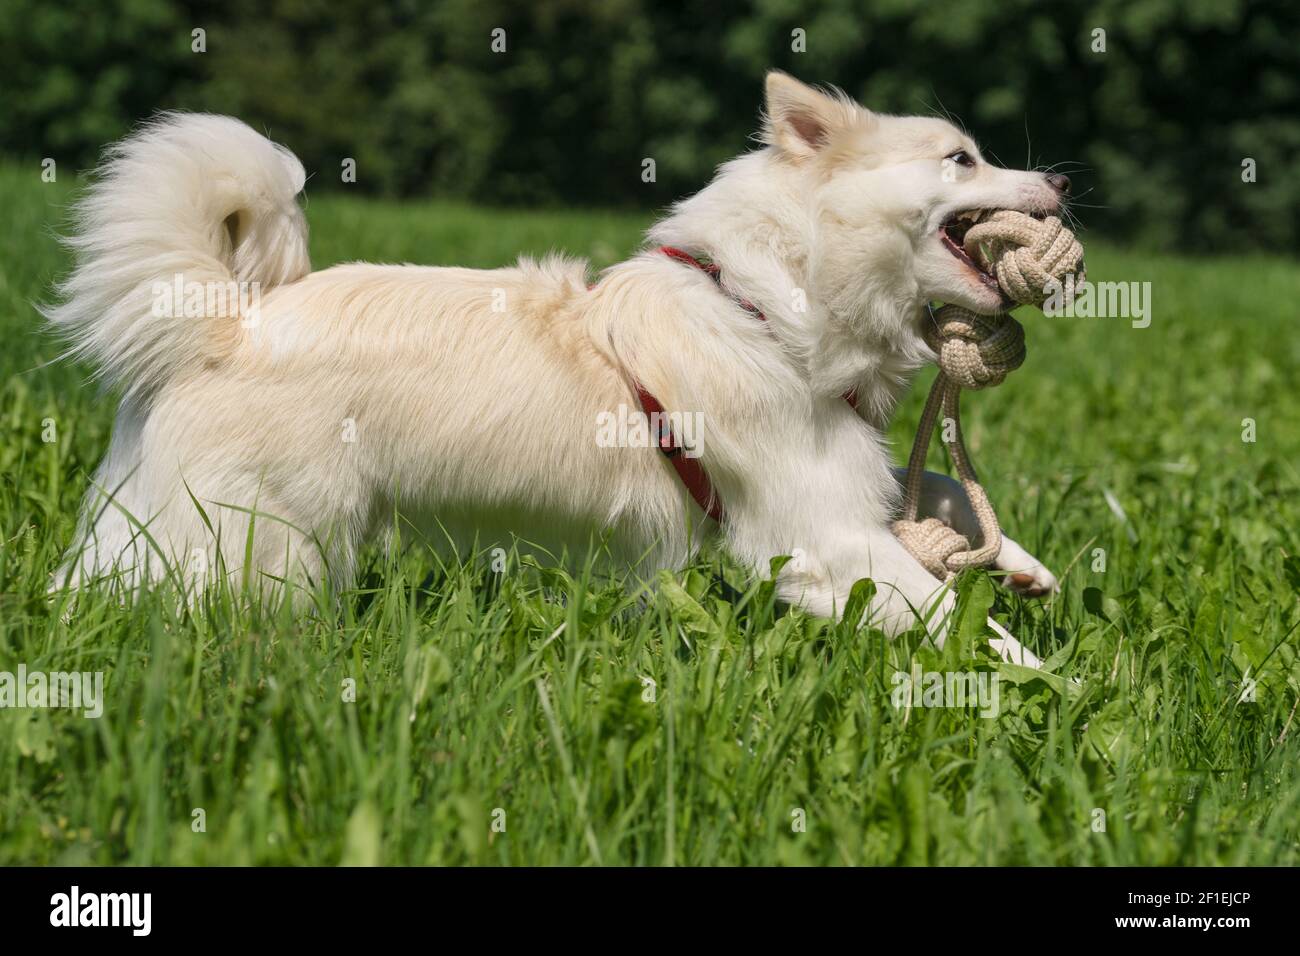
[[[779,72],[763,138],[809,200],[815,291],[841,313],[868,297],[1002,311],[997,281],[962,250],[966,229],[983,211],[1056,213],[1070,189],[992,165],[950,122],[875,113]]]

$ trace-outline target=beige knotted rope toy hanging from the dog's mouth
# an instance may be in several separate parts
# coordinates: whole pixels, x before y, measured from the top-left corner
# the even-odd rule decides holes
[[[1063,285],[1067,274],[1076,276],[1076,282],[1084,277],[1083,246],[1054,216],[1037,220],[1023,212],[1000,209],[972,225],[962,246],[966,255],[992,272],[1006,297],[1019,304],[1041,306],[1048,299],[1049,284],[1062,284],[1065,290],[1071,287]],[[1024,326],[1008,312],[985,316],[961,306],[944,306],[927,316],[923,334],[937,356],[939,376],[930,389],[916,441],[907,458],[902,518],[893,523],[893,533],[927,571],[946,580],[962,568],[991,564],[1002,549],[997,514],[966,454],[959,402],[962,389],[1000,385],[1020,367]],[[916,520],[926,454],[940,412],[953,421],[949,447],[979,520],[980,548],[972,548],[965,535],[937,518]]]

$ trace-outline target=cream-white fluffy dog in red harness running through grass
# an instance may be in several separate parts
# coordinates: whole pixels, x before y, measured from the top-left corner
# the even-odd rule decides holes
[[[757,575],[796,555],[776,580],[786,602],[835,617],[871,578],[876,626],[919,615],[941,641],[954,597],[889,531],[885,429],[935,359],[928,304],[1008,304],[963,225],[1054,213],[1069,181],[780,72],[760,142],[594,282],[559,255],[312,272],[291,152],[229,117],[155,118],[108,151],[46,308],[121,394],[55,587],[346,588],[394,515],[462,544],[598,535],[647,575],[720,535]],[[698,415],[689,458],[663,432],[597,440],[619,410],[646,420],[646,402],[670,424]],[[957,483],[927,475],[922,498],[978,537]],[[996,564],[1024,594],[1057,588],[1010,538]],[[1037,666],[989,623],[1006,659]]]

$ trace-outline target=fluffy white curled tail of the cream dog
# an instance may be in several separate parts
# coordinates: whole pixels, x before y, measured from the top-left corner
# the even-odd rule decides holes
[[[228,356],[261,295],[311,272],[302,163],[225,116],[162,113],[109,147],[43,308],[69,354],[143,395]]]

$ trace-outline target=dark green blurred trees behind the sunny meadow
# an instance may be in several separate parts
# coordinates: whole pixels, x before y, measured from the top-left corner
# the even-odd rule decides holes
[[[312,191],[352,157],[376,195],[653,208],[751,146],[777,66],[1067,163],[1089,230],[1300,239],[1295,0],[0,0],[0,155],[61,172],[183,108],[283,142]]]

